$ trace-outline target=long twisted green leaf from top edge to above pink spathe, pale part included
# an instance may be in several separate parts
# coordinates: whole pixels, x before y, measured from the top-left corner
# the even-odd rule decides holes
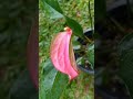
[[[82,26],[76,21],[63,13],[57,0],[42,0],[42,2],[45,7],[45,11],[50,13],[49,15],[51,19],[64,16],[66,24],[72,29],[73,34],[82,38],[84,37]]]

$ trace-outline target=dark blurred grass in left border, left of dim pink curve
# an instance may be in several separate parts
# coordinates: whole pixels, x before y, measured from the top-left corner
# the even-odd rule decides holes
[[[0,1],[0,99],[9,98],[16,79],[27,68],[27,42],[37,4],[35,0]]]

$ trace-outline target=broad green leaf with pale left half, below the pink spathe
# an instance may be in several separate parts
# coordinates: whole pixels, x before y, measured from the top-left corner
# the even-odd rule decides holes
[[[68,76],[59,73],[48,59],[44,64],[44,77],[40,82],[41,99],[60,99],[68,81]]]

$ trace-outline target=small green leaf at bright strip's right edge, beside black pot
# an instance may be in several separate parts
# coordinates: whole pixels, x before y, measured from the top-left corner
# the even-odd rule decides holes
[[[94,68],[94,44],[90,44],[88,47],[88,58],[92,68]]]

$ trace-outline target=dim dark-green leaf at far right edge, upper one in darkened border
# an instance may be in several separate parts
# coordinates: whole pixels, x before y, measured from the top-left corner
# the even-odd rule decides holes
[[[133,50],[133,33],[125,35],[117,46],[120,56],[129,50]]]

